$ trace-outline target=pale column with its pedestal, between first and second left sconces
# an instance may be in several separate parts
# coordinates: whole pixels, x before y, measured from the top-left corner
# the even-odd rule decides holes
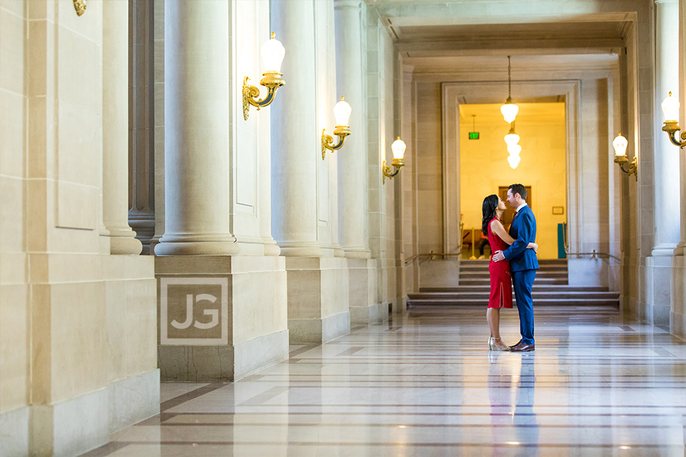
[[[323,22],[333,25],[332,3],[272,0],[272,30],[286,47],[286,87],[271,107],[272,230],[286,256],[291,344],[321,344],[350,331],[347,259],[335,256],[336,239],[318,233],[320,222],[325,227],[335,219],[327,218],[327,206],[337,198],[327,191],[327,175],[318,174],[320,126],[327,119],[317,107],[330,106],[322,97],[329,99],[331,91],[322,87],[316,70],[333,51],[332,27]],[[345,152],[344,147],[337,154]],[[336,159],[327,155],[326,160]]]

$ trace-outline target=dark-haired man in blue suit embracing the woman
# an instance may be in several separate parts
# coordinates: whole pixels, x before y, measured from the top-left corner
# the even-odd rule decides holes
[[[510,346],[510,350],[513,352],[535,350],[531,287],[533,287],[533,280],[536,278],[538,259],[533,249],[526,249],[526,247],[529,243],[536,241],[536,218],[525,200],[526,189],[522,184],[512,184],[507,189],[507,201],[516,210],[509,232],[515,242],[505,251],[496,251],[493,256],[493,260],[496,262],[506,260],[510,263],[512,285],[519,311],[519,328],[522,333],[522,339],[519,343]]]

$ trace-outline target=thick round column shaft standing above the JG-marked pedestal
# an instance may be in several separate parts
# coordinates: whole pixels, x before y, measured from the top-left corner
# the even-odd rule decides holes
[[[165,233],[155,254],[237,254],[229,226],[228,2],[165,1]]]

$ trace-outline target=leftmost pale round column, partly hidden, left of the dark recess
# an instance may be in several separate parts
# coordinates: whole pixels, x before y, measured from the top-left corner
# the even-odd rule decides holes
[[[103,222],[110,254],[140,254],[127,213],[129,103],[127,1],[103,2]]]

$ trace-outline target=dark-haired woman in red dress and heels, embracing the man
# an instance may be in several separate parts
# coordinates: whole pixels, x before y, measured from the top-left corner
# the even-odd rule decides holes
[[[502,222],[500,222],[500,218],[506,209],[505,202],[497,195],[489,195],[484,198],[482,209],[484,214],[482,232],[484,235],[488,235],[491,251],[504,251],[515,241],[508,235]],[[529,243],[527,249],[533,249],[537,253],[538,244]],[[500,309],[512,307],[510,264],[508,261],[494,262],[491,260],[488,271],[491,275],[491,296],[486,311],[486,320],[491,329],[488,348],[489,350],[510,350],[500,338]]]

